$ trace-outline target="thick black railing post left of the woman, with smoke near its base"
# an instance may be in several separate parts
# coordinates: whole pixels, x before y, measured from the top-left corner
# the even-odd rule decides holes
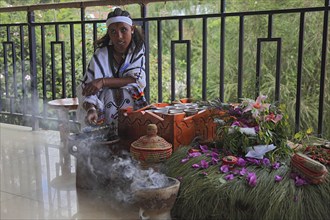
[[[38,84],[37,84],[37,58],[36,58],[36,35],[34,25],[34,11],[28,11],[29,31],[29,54],[30,54],[30,75],[31,75],[31,105],[32,105],[32,130],[39,129]]]

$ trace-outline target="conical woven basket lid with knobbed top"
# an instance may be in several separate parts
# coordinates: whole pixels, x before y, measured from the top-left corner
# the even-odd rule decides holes
[[[172,144],[168,143],[164,138],[157,135],[157,125],[149,124],[147,126],[147,135],[140,137],[132,143],[132,147],[136,148],[171,148]]]

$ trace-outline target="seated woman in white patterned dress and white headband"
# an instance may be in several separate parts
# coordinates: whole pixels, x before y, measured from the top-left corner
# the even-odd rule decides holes
[[[82,82],[85,122],[105,122],[115,129],[119,109],[147,105],[143,90],[145,47],[130,14],[116,8],[108,14],[107,33],[95,42],[96,50]]]

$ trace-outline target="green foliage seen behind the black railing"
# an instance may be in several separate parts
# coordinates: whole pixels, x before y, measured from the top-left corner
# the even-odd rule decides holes
[[[33,5],[39,3],[56,3],[56,2],[70,2],[70,0],[5,0],[1,1],[0,7],[8,5]],[[315,7],[323,6],[323,0],[227,0],[226,12],[241,12],[241,11],[256,11],[256,10],[271,10],[271,9],[287,9],[299,7]],[[139,18],[140,7],[139,5],[127,5],[122,7],[130,11],[133,18]],[[105,19],[106,14],[112,10],[113,7],[95,7],[87,8],[86,19],[93,19],[88,17],[90,14],[99,15],[94,19]],[[195,14],[215,14],[220,13],[219,0],[189,0],[178,2],[166,3],[150,3],[148,4],[148,17],[158,16],[175,16],[175,15],[195,15]],[[318,106],[319,106],[319,89],[320,89],[320,69],[321,69],[321,51],[322,51],[322,30],[323,30],[323,13],[307,12],[305,23],[305,36],[304,36],[304,56],[303,56],[303,72],[302,72],[302,90],[301,90],[301,124],[300,129],[307,129],[312,127],[314,131],[317,130],[318,120]],[[16,13],[1,13],[1,23],[26,23],[26,12]],[[57,22],[57,21],[79,21],[79,9],[61,9],[61,10],[45,10],[35,12],[36,22]],[[191,85],[192,97],[196,100],[202,99],[202,19],[187,19],[183,21],[183,39],[191,40]],[[219,97],[219,83],[220,83],[220,25],[219,18],[209,18],[207,20],[207,99],[215,99]],[[243,63],[243,97],[254,98],[255,96],[255,73],[256,73],[256,51],[257,51],[257,38],[267,37],[267,16],[246,16],[244,20],[244,63]],[[150,102],[158,102],[158,48],[157,48],[157,22],[150,22]],[[83,57],[81,52],[81,25],[75,24],[75,66],[74,73],[72,73],[71,54],[70,48],[70,29],[68,25],[59,26],[59,34],[55,35],[53,26],[45,26],[45,46],[46,53],[43,58],[41,56],[41,43],[43,35],[40,29],[36,29],[37,35],[37,79],[39,97],[42,100],[50,100],[53,96],[60,98],[63,96],[61,87],[62,75],[60,61],[61,56],[55,57],[56,67],[56,94],[52,93],[51,85],[51,54],[50,42],[63,41],[65,45],[65,69],[66,71],[66,86],[67,94],[70,97],[72,91],[72,74],[76,75],[77,79],[82,77],[83,66],[82,60],[87,62],[93,53],[93,26],[87,24],[86,28],[86,56]],[[162,42],[162,92],[164,102],[171,99],[171,56],[170,56],[170,41],[178,40],[178,24],[177,21],[167,20],[162,23],[163,29],[163,42]],[[330,28],[329,28],[330,29]],[[20,73],[25,69],[26,75],[29,74],[29,51],[26,27],[23,28],[25,33],[24,45],[25,62],[22,64],[22,51],[19,49],[19,28],[12,27],[11,33],[13,34],[12,41],[16,42],[17,62],[16,72]],[[97,28],[97,37],[104,34],[105,28],[100,24]],[[330,31],[328,32],[330,34]],[[296,83],[297,83],[297,62],[298,62],[298,36],[299,35],[299,14],[281,14],[274,16],[273,21],[273,37],[282,38],[282,57],[281,57],[281,101],[286,104],[287,112],[290,116],[290,124],[294,130],[295,120],[295,99],[296,99]],[[238,81],[238,36],[239,36],[239,17],[226,18],[226,36],[225,36],[225,102],[237,102],[237,81]],[[0,31],[0,41],[6,41],[4,29]],[[327,47],[327,62],[326,62],[326,78],[325,78],[325,93],[324,93],[324,137],[330,138],[330,36],[328,36]],[[55,45],[56,54],[60,54],[60,46]],[[1,48],[1,52],[3,48]],[[10,52],[9,52],[10,53]],[[176,98],[186,97],[186,47],[179,45],[176,47]],[[275,90],[275,60],[276,60],[276,44],[265,43],[262,45],[262,79],[261,79],[261,93],[268,95],[270,100],[274,100]],[[8,60],[8,62],[12,62]],[[0,57],[1,71],[4,69],[3,56]],[[46,73],[45,78],[42,78],[42,72]],[[13,74],[13,70],[8,70],[9,76]],[[21,96],[30,96],[29,82],[25,82],[25,75],[17,76],[16,81],[19,87],[19,94]],[[13,80],[13,78],[10,78]],[[45,83],[43,83],[45,82]],[[79,81],[76,82],[78,84]],[[27,86],[24,87],[24,84]],[[3,83],[2,83],[3,86]],[[46,94],[42,94],[42,88],[46,86]],[[2,88],[3,89],[3,88]],[[3,91],[3,90],[2,90]],[[11,88],[10,93],[14,90]],[[41,102],[43,103],[43,102]],[[17,108],[22,103],[18,101]],[[41,107],[43,104],[41,104]],[[23,110],[22,110],[23,111]],[[42,111],[41,111],[42,112]]]

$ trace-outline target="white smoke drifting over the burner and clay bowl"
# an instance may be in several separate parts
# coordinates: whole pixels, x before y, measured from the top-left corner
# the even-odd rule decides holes
[[[77,175],[94,179],[89,181],[90,189],[107,191],[116,201],[133,204],[134,193],[140,189],[155,189],[169,185],[168,177],[156,172],[153,168],[141,167],[139,161],[131,157],[129,152],[120,151],[121,146],[98,144],[91,138],[71,143],[70,153],[77,158],[77,169],[86,171]],[[116,152],[116,153],[115,153]],[[82,168],[83,167],[83,168]]]

